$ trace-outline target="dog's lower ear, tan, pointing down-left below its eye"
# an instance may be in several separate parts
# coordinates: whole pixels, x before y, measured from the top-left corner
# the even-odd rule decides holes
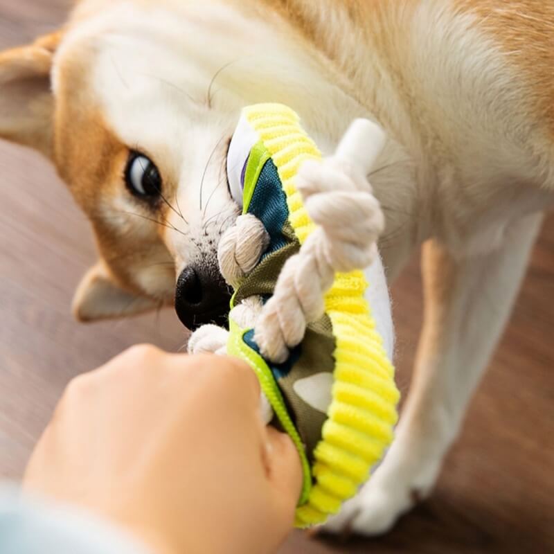
[[[123,290],[100,261],[81,280],[73,296],[73,315],[79,321],[98,321],[154,310],[150,298]]]

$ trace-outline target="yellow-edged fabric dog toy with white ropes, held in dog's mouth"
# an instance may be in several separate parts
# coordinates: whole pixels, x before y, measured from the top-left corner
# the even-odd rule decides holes
[[[204,325],[188,349],[240,357],[256,372],[266,420],[301,457],[302,528],[357,492],[397,421],[394,369],[360,271],[373,262],[382,273],[384,221],[366,175],[383,143],[377,125],[356,120],[324,166],[296,113],[263,104],[242,111],[229,146],[242,206],[218,249],[234,289],[229,332]]]

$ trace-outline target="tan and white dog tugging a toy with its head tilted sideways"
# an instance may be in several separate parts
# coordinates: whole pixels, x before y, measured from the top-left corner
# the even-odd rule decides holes
[[[325,154],[354,118],[385,129],[379,249],[390,283],[423,245],[425,321],[395,442],[327,524],[374,535],[430,494],[554,202],[553,33],[541,0],[81,0],[0,55],[0,136],[51,159],[89,217],[78,319],[175,298],[195,328],[228,309],[240,109],[289,105]]]

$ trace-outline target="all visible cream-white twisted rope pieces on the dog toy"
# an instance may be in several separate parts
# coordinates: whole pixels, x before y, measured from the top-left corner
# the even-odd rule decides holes
[[[368,267],[377,256],[377,238],[384,229],[379,202],[366,175],[384,146],[384,133],[368,120],[355,120],[333,157],[306,161],[296,177],[296,188],[316,230],[300,251],[285,262],[273,296],[262,306],[247,298],[231,310],[241,328],[254,328],[260,352],[282,363],[289,349],[301,343],[306,326],[325,311],[325,292],[337,271]],[[237,287],[258,264],[269,244],[262,222],[240,215],[222,236],[217,252],[222,276]],[[229,332],[204,325],[188,342],[188,352],[226,353]],[[265,422],[273,411],[262,393]]]

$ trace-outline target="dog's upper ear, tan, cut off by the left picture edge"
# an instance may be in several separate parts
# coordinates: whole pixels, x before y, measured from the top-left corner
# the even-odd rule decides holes
[[[0,53],[0,138],[51,157],[54,98],[51,69],[62,32]]]

